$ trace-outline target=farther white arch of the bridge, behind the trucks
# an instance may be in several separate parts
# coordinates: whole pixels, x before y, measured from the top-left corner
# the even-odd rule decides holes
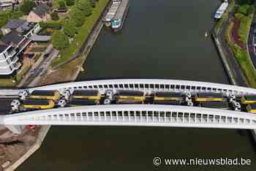
[[[144,93],[152,93],[154,91],[176,91],[176,92],[215,92],[228,93],[235,95],[256,94],[253,88],[244,88],[240,86],[230,86],[219,83],[204,83],[187,80],[147,80],[147,79],[127,79],[127,80],[94,80],[82,81],[75,83],[62,83],[51,86],[43,86],[38,88],[30,88],[29,91],[35,89],[52,90],[57,89],[61,92],[69,89],[97,89],[104,94],[106,90],[139,90]]]

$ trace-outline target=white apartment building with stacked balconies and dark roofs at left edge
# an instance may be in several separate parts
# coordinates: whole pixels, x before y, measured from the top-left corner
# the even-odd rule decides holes
[[[31,36],[40,30],[38,23],[10,20],[4,26],[4,36],[0,39],[0,75],[11,75],[22,65],[18,55],[31,42]]]

